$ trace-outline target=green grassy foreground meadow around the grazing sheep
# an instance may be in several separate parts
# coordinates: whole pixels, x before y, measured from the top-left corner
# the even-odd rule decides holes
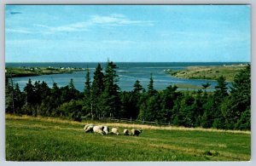
[[[6,115],[8,161],[248,161],[250,132],[128,123],[142,135],[85,134],[84,123]],[[96,122],[94,122],[96,123]]]

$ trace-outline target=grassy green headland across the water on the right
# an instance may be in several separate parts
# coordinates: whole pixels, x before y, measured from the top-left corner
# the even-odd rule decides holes
[[[232,66],[189,66],[186,70],[170,71],[172,76],[189,79],[211,79],[216,80],[220,76],[224,76],[226,81],[232,82],[238,72],[245,65]]]

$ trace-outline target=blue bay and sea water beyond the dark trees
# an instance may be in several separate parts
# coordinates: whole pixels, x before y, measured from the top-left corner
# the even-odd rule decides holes
[[[80,67],[80,68],[90,68],[90,77],[91,81],[93,79],[93,72],[98,63],[6,63],[6,66],[27,66],[27,67]],[[241,63],[231,63],[231,62],[214,62],[214,63],[115,63],[119,68],[117,69],[117,74],[119,75],[119,87],[121,90],[130,91],[133,89],[133,84],[136,80],[139,80],[143,85],[143,88],[147,89],[149,83],[150,73],[153,74],[154,79],[154,89],[166,89],[167,86],[179,83],[193,84],[201,86],[202,83],[210,83],[211,87],[208,89],[212,91],[217,85],[216,81],[212,80],[195,80],[195,79],[183,79],[172,77],[164,70],[180,70],[184,69],[187,66],[223,66],[223,65],[234,65]],[[101,63],[104,70],[106,63]],[[53,75],[44,75],[44,76],[35,76],[35,77],[15,77],[14,82],[19,83],[20,89],[24,89],[28,79],[31,78],[32,82],[35,81],[44,81],[48,83],[49,87],[55,82],[59,87],[66,86],[70,79],[73,78],[74,85],[79,91],[84,90],[84,80],[85,72],[73,72],[67,74],[53,74]],[[228,83],[228,86],[231,86],[231,83]],[[181,89],[186,90],[186,89]],[[191,89],[189,89],[191,90]],[[193,90],[193,89],[192,89]]]

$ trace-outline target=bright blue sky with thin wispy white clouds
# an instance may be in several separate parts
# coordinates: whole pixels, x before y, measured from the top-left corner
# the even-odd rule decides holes
[[[249,5],[6,5],[6,62],[250,62]]]

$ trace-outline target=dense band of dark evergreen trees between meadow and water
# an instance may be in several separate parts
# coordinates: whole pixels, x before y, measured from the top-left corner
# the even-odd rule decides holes
[[[213,92],[210,84],[202,84],[197,91],[178,91],[177,86],[154,89],[151,74],[147,89],[137,80],[131,91],[119,89],[117,66],[108,61],[103,72],[96,66],[93,79],[89,69],[84,76],[84,92],[75,89],[73,79],[64,87],[53,83],[29,79],[20,90],[11,77],[6,76],[6,110],[18,115],[68,117],[81,121],[81,117],[101,120],[104,117],[132,118],[185,127],[214,129],[251,129],[251,66],[239,72],[227,87],[225,77],[218,77]],[[92,80],[92,81],[91,81]]]

